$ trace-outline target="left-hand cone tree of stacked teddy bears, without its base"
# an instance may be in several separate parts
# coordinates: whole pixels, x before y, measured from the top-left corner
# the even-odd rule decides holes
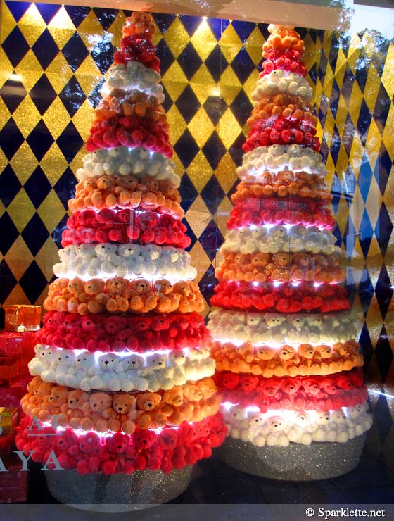
[[[82,474],[182,469],[226,432],[154,32],[146,13],[123,27],[22,400],[18,448]]]

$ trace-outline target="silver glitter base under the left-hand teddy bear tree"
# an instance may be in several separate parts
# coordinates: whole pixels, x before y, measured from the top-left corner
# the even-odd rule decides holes
[[[138,470],[133,474],[80,475],[75,470],[47,470],[46,483],[61,503],[99,512],[141,510],[176,498],[189,486],[193,467]]]

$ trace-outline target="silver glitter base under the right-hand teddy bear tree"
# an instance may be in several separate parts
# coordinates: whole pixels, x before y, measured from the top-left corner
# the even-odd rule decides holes
[[[313,443],[309,446],[257,447],[227,437],[215,449],[223,463],[255,476],[291,481],[329,479],[350,472],[360,460],[367,433],[339,443]]]

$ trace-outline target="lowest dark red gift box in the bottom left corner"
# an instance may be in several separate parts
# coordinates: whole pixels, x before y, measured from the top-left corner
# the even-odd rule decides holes
[[[5,460],[8,472],[0,472],[0,503],[23,503],[27,499],[27,472],[19,458]]]

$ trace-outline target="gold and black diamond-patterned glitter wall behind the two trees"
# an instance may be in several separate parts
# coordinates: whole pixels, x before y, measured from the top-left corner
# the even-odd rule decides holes
[[[1,8],[0,303],[42,303],[91,104],[129,13],[14,1]],[[155,21],[191,254],[208,300],[267,25],[158,14]],[[393,44],[373,34],[350,40],[300,32],[317,83],[336,234],[350,259],[350,294],[366,317],[361,340],[370,377],[387,383],[394,372]]]

